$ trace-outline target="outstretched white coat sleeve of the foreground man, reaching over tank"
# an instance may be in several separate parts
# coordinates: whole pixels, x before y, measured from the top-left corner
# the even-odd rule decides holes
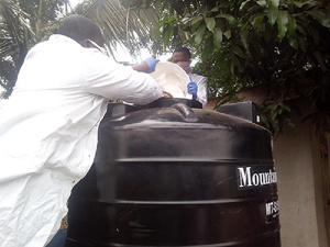
[[[86,64],[87,92],[135,104],[146,104],[163,97],[162,89],[150,75],[117,64],[98,52],[94,52]]]

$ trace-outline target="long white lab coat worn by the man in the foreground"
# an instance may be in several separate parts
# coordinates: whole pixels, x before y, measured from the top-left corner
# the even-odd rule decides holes
[[[42,247],[58,231],[94,161],[108,99],[161,97],[148,75],[66,36],[33,47],[0,106],[0,246]]]

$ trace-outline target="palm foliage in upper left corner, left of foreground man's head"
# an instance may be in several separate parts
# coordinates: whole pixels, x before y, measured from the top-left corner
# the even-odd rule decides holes
[[[10,96],[28,50],[54,31],[65,0],[0,1],[0,86]]]

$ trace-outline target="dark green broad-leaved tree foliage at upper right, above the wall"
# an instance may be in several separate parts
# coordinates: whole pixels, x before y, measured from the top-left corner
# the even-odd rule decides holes
[[[329,117],[330,4],[327,1],[162,1],[179,37],[196,47],[209,78],[210,97],[220,101],[239,90],[262,86],[267,98],[264,123],[274,133],[294,127],[288,99],[304,98],[315,113]],[[189,5],[189,7],[187,7]],[[178,27],[179,26],[179,27]],[[176,35],[176,31],[188,35]],[[317,114],[319,116],[319,114]],[[327,123],[326,121],[322,121]],[[329,125],[323,125],[329,128]]]

